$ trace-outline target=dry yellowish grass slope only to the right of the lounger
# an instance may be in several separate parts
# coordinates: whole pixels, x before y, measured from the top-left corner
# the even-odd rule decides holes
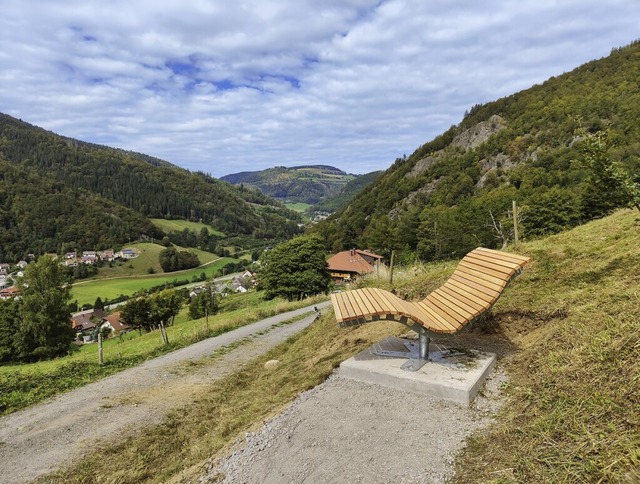
[[[637,216],[618,212],[522,252],[532,267],[495,314],[520,348],[507,359],[509,404],[470,440],[457,480],[640,482]]]

